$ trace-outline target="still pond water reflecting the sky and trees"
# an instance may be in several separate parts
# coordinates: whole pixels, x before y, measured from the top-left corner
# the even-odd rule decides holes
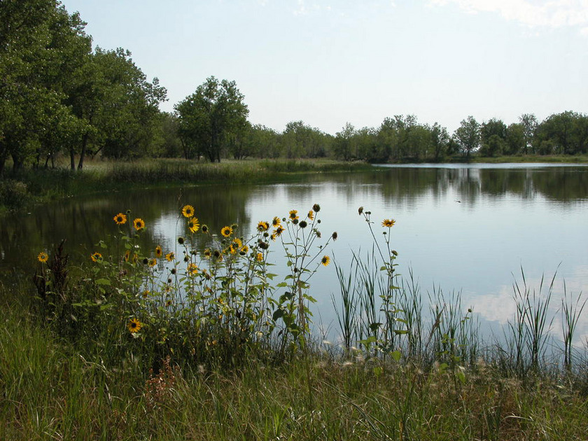
[[[112,218],[127,209],[146,222],[146,245],[161,244],[167,252],[185,234],[177,222],[184,204],[192,204],[211,230],[237,223],[246,237],[258,221],[288,216],[291,209],[304,214],[314,203],[321,205],[323,237],[338,234],[325,253],[342,267],[349,268],[350,250],[365,255],[372,246],[358,207],[372,212],[378,239],[381,221],[394,218],[391,244],[399,253],[398,272],[407,276],[412,269],[423,295],[433,286],[461,292],[464,307],[473,307],[494,332],[514,314],[512,283],[521,281],[521,268],[527,284],[537,289],[543,275],[550,281],[557,272],[554,335],[561,332],[557,309],[563,282],[568,295],[588,295],[588,167],[580,165],[374,167],[370,172],[301,176],[288,183],[72,197],[4,218],[0,269],[4,275],[34,272],[38,252],[50,251],[62,239],[74,261],[87,260],[97,241],[116,234]],[[275,246],[270,260],[283,262],[281,251]],[[334,265],[313,276],[310,293],[318,300],[312,307],[315,324],[336,331]],[[585,341],[588,309],[582,315],[577,337]]]

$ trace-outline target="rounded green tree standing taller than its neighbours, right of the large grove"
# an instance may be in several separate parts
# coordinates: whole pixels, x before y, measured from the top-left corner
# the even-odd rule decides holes
[[[244,126],[248,109],[235,81],[218,81],[214,76],[175,106],[184,151],[203,154],[221,162],[221,150],[229,134]],[[188,159],[188,155],[186,155]]]

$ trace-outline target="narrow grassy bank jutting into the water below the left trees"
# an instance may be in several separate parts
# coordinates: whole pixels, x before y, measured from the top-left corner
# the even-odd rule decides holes
[[[80,172],[72,172],[65,165],[57,169],[7,172],[0,181],[0,211],[26,209],[33,204],[71,195],[130,188],[262,183],[285,181],[294,174],[351,172],[369,168],[370,165],[363,162],[333,160],[224,160],[220,164],[165,159],[88,161]]]

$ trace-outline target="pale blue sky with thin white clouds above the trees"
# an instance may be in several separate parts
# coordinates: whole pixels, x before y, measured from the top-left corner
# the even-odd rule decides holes
[[[174,105],[235,80],[249,121],[335,134],[414,115],[588,113],[588,0],[62,0],[94,46],[125,48]]]

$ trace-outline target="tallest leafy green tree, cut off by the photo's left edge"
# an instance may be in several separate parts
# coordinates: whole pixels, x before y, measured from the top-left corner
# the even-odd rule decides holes
[[[57,1],[0,2],[0,171],[54,158],[83,124],[67,103],[70,76],[91,50],[85,23]]]

